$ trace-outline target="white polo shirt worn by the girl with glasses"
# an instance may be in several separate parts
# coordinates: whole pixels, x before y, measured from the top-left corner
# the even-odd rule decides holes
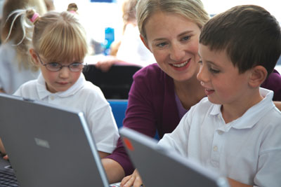
[[[119,133],[110,105],[100,88],[86,81],[83,74],[71,88],[56,93],[46,90],[44,77],[40,74],[37,80],[23,84],[14,95],[84,112],[98,151],[112,153],[115,149]]]

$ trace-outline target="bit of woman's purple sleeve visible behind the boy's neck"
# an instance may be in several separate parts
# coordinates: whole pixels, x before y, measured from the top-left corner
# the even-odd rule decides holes
[[[261,88],[273,90],[273,101],[281,101],[281,76],[278,71],[274,69],[273,73],[261,84]]]

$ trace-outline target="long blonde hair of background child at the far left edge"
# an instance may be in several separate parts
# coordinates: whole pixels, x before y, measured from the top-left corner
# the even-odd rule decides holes
[[[11,42],[15,46],[17,54],[18,67],[25,69],[38,70],[38,67],[32,65],[31,58],[28,52],[30,41],[23,38],[28,27],[22,28],[20,19],[16,19],[15,15],[11,15],[17,9],[33,7],[38,13],[46,13],[46,6],[44,0],[6,0],[3,6],[3,17],[1,22],[1,41],[2,43]],[[13,27],[12,27],[13,25]]]

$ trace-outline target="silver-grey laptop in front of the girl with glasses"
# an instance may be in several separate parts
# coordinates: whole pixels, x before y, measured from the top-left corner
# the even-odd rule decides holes
[[[0,137],[20,186],[110,186],[83,113],[4,94],[0,111]],[[12,171],[0,161],[1,171]]]

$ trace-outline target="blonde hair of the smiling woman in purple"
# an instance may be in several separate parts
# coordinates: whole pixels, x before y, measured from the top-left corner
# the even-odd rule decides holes
[[[207,11],[200,0],[138,0],[136,18],[138,29],[146,39],[145,23],[156,12],[176,13],[195,22],[200,29],[209,20]]]

